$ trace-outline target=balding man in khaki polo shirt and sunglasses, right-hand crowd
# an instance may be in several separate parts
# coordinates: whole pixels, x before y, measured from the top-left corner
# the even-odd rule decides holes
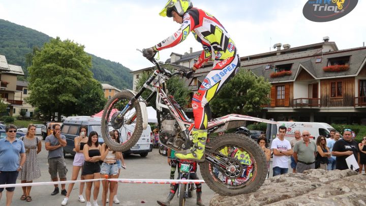
[[[308,169],[315,169],[317,145],[314,141],[310,141],[309,137],[309,131],[302,131],[302,141],[296,142],[293,149],[293,157],[297,163],[296,172],[298,173]]]

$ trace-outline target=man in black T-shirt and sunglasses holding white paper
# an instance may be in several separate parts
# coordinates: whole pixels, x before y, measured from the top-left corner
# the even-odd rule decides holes
[[[344,170],[348,168],[346,158],[354,155],[356,160],[359,160],[358,144],[352,139],[352,130],[345,129],[343,132],[343,139],[334,143],[332,155],[335,156],[335,168]]]

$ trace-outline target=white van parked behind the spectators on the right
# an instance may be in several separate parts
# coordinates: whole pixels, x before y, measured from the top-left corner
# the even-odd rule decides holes
[[[324,137],[328,137],[330,130],[334,129],[332,126],[327,123],[319,123],[319,122],[278,122],[277,124],[277,136],[278,136],[278,128],[280,126],[285,126],[287,128],[285,138],[287,140],[291,140],[295,138],[294,132],[296,130],[302,131],[308,130],[310,133],[310,139],[316,140],[319,135],[323,135]]]

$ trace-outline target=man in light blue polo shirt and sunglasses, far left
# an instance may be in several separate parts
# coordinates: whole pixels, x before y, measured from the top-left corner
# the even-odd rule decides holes
[[[23,141],[16,138],[17,128],[14,125],[5,127],[7,137],[0,140],[0,185],[15,184],[18,172],[25,162]],[[19,161],[20,156],[20,161]],[[11,205],[15,187],[7,187],[7,206]],[[0,199],[4,188],[0,188]]]

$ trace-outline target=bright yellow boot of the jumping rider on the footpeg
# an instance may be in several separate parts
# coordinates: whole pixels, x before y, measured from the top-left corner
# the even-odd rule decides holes
[[[207,139],[207,130],[192,130],[193,146],[189,150],[175,152],[175,157],[183,160],[195,160],[204,162],[205,160],[205,145]]]

